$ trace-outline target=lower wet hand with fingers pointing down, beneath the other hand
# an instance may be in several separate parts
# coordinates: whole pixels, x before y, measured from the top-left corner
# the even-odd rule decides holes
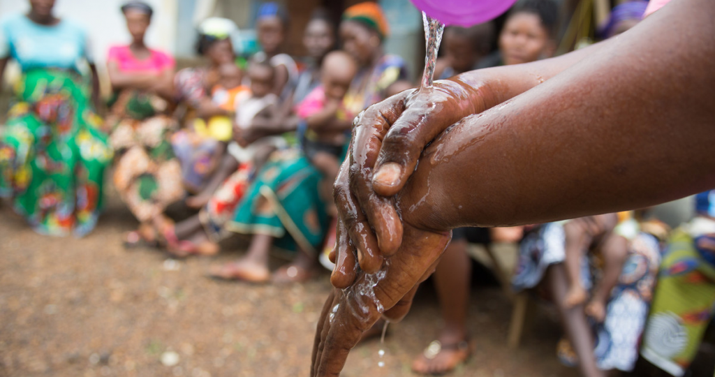
[[[405,225],[405,240],[399,252],[386,258],[373,274],[360,270],[355,263],[344,263],[354,260],[354,254],[353,258],[345,258],[345,254],[355,253],[350,245],[337,247],[337,260],[342,262],[336,270],[350,269],[355,280],[347,285],[347,280],[332,281],[336,288],[318,320],[311,376],[339,376],[350,349],[380,316],[392,322],[401,320],[412,305],[419,283],[434,271],[449,240],[450,232],[429,232]]]

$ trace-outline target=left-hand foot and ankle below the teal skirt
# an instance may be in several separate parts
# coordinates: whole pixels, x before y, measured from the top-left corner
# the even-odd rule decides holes
[[[270,235],[253,235],[248,252],[243,258],[225,265],[216,266],[210,271],[215,278],[225,280],[245,280],[252,283],[265,283],[270,280],[268,257],[273,238]]]

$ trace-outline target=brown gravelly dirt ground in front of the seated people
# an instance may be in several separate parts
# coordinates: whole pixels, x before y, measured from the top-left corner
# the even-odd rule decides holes
[[[0,207],[0,376],[308,375],[327,271],[290,287],[217,282],[206,278],[209,266],[237,257],[245,243],[176,261],[124,250],[122,234],[135,225],[115,195],[82,239],[36,235],[7,203]],[[476,351],[453,376],[576,375],[556,361],[561,331],[548,310],[517,351],[506,347],[511,303],[498,286],[475,284],[470,310]],[[438,318],[427,287],[390,325],[385,366],[380,342],[371,341],[352,351],[342,376],[411,376]]]

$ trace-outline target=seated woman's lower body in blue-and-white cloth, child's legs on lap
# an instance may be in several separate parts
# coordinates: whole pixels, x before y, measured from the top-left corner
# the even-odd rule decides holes
[[[558,356],[568,366],[580,366],[583,376],[601,374],[594,361],[601,371],[628,372],[638,359],[660,248],[638,222],[621,218],[618,222],[611,213],[551,222],[531,230],[521,243],[514,288],[538,286],[556,303],[567,334]],[[576,265],[576,273],[569,273],[569,263]],[[580,300],[571,294],[574,285],[586,290]],[[593,295],[586,305],[589,291]]]

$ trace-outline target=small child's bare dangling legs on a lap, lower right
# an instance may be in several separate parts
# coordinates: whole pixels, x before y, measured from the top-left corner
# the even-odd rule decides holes
[[[564,303],[573,307],[586,302],[588,292],[581,283],[581,261],[586,253],[599,251],[603,275],[585,309],[586,314],[599,323],[606,318],[606,304],[611,297],[611,290],[618,283],[623,264],[628,258],[628,240],[638,235],[638,223],[628,213],[581,217],[563,225],[566,234],[566,272],[571,283]]]

